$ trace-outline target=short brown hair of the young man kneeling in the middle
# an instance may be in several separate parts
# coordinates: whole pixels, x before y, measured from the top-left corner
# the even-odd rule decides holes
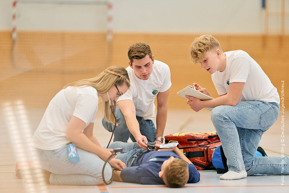
[[[151,47],[145,43],[135,43],[129,47],[127,52],[127,56],[131,63],[133,62],[133,59],[143,59],[146,55],[149,55],[151,59],[153,57]]]

